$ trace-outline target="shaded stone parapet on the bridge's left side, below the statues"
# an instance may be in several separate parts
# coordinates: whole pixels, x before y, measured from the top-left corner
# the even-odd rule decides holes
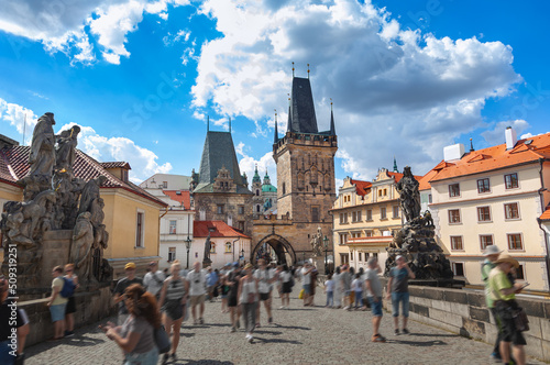
[[[111,305],[111,290],[107,285],[94,292],[76,292],[75,329],[96,323],[114,314],[116,310]],[[25,346],[32,346],[54,336],[52,317],[50,308],[46,306],[47,301],[48,299],[36,299],[18,303],[19,308],[25,310],[31,324],[31,333],[26,338]]]

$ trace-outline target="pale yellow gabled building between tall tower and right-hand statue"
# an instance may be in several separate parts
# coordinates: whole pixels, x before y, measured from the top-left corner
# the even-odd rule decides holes
[[[393,232],[403,226],[396,190],[402,177],[382,168],[373,181],[344,179],[331,209],[336,265],[366,268],[372,256],[384,265]]]

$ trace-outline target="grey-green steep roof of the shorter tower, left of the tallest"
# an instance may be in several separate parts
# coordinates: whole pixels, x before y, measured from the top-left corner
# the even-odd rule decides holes
[[[231,133],[208,131],[200,159],[199,185],[195,192],[212,184],[222,167],[229,170],[238,186],[244,186]]]

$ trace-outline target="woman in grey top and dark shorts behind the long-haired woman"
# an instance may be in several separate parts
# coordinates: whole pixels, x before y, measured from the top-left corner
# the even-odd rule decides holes
[[[176,350],[179,344],[179,329],[184,321],[184,309],[187,297],[189,296],[189,283],[179,276],[180,270],[182,267],[179,262],[175,261],[170,267],[172,276],[164,280],[163,288],[161,289],[158,306],[163,311],[164,328],[168,336],[170,332],[174,332],[172,339],[172,354],[164,354],[163,364],[168,362],[168,356],[172,357],[172,361],[176,361]]]

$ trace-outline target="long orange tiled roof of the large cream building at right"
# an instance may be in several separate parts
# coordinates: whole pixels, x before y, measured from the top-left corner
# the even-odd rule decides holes
[[[527,141],[531,142],[526,144]],[[430,182],[534,163],[540,158],[550,159],[550,133],[520,140],[512,150],[506,150],[506,143],[503,143],[468,153],[452,163],[442,161],[432,168],[436,174]]]

